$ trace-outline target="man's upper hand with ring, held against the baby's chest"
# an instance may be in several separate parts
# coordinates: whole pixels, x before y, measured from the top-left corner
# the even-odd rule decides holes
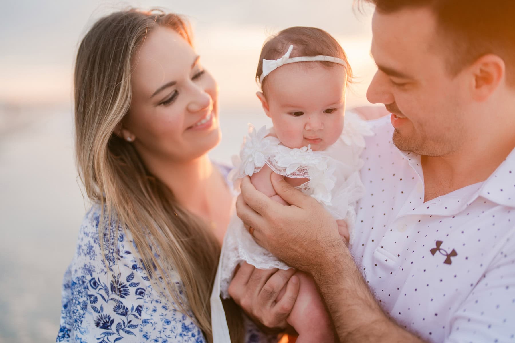
[[[313,274],[334,258],[345,242],[338,224],[314,198],[271,174],[277,194],[290,206],[281,205],[242,179],[242,194],[236,201],[239,218],[253,228],[256,242],[295,268]]]

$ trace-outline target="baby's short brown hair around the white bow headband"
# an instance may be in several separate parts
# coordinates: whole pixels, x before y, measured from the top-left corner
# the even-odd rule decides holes
[[[259,57],[258,70],[256,70],[256,80],[263,73],[263,59],[277,60],[281,58],[288,47],[293,44],[290,58],[300,56],[332,56],[344,60],[347,63],[347,83],[352,82],[352,69],[347,60],[347,55],[341,45],[334,39],[332,35],[322,29],[316,27],[294,26],[282,30],[281,32],[269,37]],[[333,62],[315,61],[321,63],[325,67],[331,68],[335,65]],[[261,83],[261,89],[265,84],[266,78]]]

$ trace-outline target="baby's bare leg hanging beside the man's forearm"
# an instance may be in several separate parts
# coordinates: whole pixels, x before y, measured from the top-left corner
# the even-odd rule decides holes
[[[297,272],[295,275],[300,279],[299,295],[286,321],[299,334],[296,343],[334,342],[331,318],[315,282],[307,274]]]

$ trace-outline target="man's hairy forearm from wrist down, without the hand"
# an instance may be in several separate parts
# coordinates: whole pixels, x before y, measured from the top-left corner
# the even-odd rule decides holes
[[[313,277],[340,342],[421,342],[383,313],[344,244],[336,243],[327,250],[327,260]]]

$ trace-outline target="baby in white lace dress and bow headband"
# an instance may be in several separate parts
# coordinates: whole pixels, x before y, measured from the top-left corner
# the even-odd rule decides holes
[[[338,220],[342,239],[350,243],[354,206],[364,195],[359,154],[365,146],[363,136],[371,134],[356,114],[345,113],[346,86],[351,76],[344,50],[321,29],[291,27],[270,38],[261,51],[256,78],[262,90],[258,98],[273,129],[250,127],[239,157],[233,160],[236,168],[231,175],[234,181],[249,175],[256,189],[289,205],[270,182],[271,173],[283,175],[289,184],[330,211]],[[228,341],[228,336],[221,333],[227,324],[219,296],[229,297],[234,270],[243,261],[260,269],[289,268],[256,244],[243,222],[234,216],[212,295],[215,343]],[[287,322],[298,332],[297,342],[333,342],[331,320],[313,279],[301,272],[296,275],[300,289]]]

